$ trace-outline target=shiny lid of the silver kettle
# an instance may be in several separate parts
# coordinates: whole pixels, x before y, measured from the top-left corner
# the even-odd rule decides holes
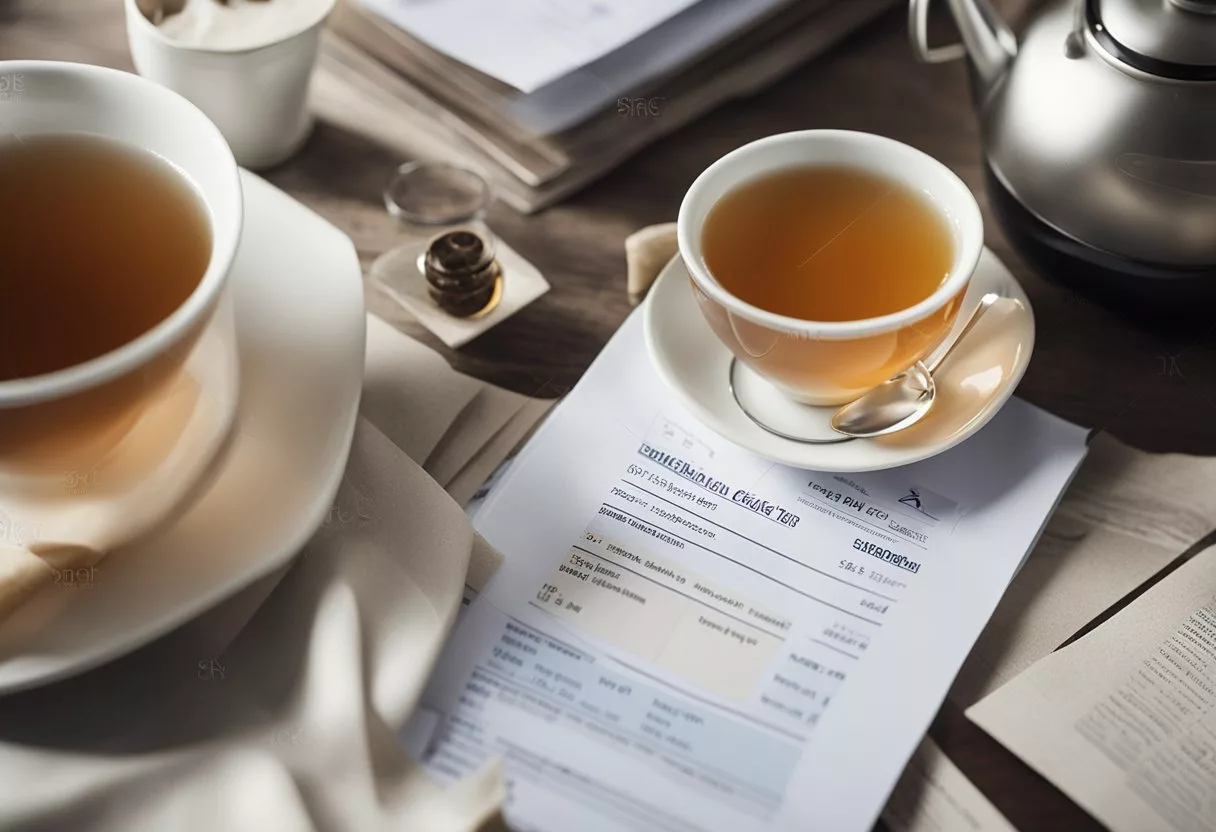
[[[1085,0],[1102,46],[1153,75],[1216,80],[1216,0]]]

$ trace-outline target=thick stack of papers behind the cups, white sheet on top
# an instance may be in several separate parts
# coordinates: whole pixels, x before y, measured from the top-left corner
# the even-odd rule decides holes
[[[322,118],[478,168],[520,210],[754,92],[894,0],[343,0]]]

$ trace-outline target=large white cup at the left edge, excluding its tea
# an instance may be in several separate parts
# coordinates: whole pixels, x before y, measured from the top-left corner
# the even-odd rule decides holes
[[[0,381],[0,482],[62,474],[117,445],[154,397],[178,377],[213,322],[231,332],[229,270],[243,221],[241,180],[215,125],[190,101],[139,75],[83,63],[0,62],[0,130],[91,134],[169,162],[201,197],[212,230],[202,280],[175,311],[131,342],[72,367]],[[36,275],[6,280],[36,280]],[[105,280],[105,274],[97,275]]]

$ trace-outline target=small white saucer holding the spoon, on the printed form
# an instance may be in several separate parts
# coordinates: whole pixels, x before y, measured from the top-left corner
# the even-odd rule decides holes
[[[987,292],[1015,303],[989,311],[968,336],[967,349],[938,369],[938,399],[925,418],[878,439],[841,439],[829,426],[834,407],[794,404],[742,364],[732,373],[733,355],[700,314],[679,255],[654,282],[643,326],[659,375],[702,422],[722,437],[798,468],[879,471],[953,448],[984,427],[1013,395],[1030,364],[1035,316],[1021,286],[985,248],[956,328],[964,326]],[[755,420],[744,412],[741,400],[756,415]]]

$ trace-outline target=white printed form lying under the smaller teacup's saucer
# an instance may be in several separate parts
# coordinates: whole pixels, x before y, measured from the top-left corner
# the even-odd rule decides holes
[[[635,314],[477,513],[506,562],[428,765],[505,755],[520,830],[869,830],[1083,454],[1013,400],[916,466],[773,465],[697,426]]]

